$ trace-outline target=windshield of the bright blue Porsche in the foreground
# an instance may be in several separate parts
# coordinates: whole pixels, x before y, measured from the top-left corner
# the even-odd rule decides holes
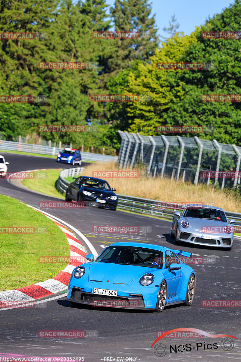
[[[134,246],[109,246],[103,251],[96,262],[147,266],[148,268],[162,269],[163,253],[148,248]]]

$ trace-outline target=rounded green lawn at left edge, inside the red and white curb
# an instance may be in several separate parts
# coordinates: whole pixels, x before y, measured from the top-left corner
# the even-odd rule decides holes
[[[42,282],[68,265],[39,263],[42,256],[70,255],[64,232],[52,220],[4,195],[0,195],[0,213],[1,227],[35,228],[35,233],[29,234],[0,233],[0,291]]]

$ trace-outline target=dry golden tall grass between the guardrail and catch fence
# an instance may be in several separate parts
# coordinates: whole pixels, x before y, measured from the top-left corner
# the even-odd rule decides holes
[[[95,163],[85,167],[83,174],[92,176],[92,171],[120,171],[115,163]],[[170,178],[106,178],[111,187],[122,195],[130,195],[166,202],[200,202],[221,207],[227,211],[241,212],[240,203],[224,191],[213,186],[198,185]]]

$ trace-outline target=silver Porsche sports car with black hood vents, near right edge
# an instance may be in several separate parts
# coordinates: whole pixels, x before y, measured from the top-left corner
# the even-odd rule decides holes
[[[191,244],[231,249],[233,246],[235,220],[227,220],[223,209],[201,205],[187,205],[183,212],[176,211],[171,226],[171,237]]]

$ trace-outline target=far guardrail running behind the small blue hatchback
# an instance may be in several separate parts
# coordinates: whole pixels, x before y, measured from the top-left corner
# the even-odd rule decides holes
[[[30,153],[39,153],[40,155],[57,156],[63,150],[63,148],[0,140],[0,150],[22,151]],[[91,153],[91,152],[81,152],[81,158],[83,162],[85,161],[117,162],[118,160],[117,156],[101,155],[100,153]]]

